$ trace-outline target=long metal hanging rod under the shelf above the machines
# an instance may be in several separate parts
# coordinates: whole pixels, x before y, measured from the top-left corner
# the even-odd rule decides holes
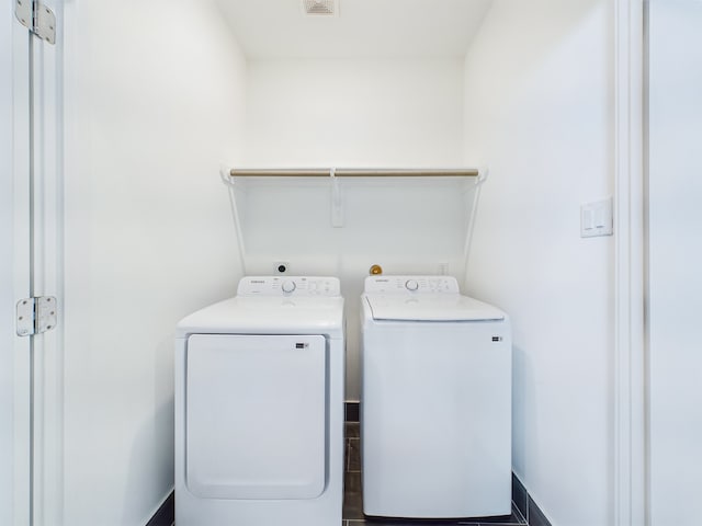
[[[281,168],[281,169],[237,169],[229,171],[231,178],[329,178],[332,169],[326,168]],[[333,169],[335,178],[477,178],[479,171],[476,168],[429,168],[429,169]]]

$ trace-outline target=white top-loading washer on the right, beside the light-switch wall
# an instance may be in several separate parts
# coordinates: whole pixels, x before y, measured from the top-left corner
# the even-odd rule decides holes
[[[511,513],[508,317],[451,276],[370,276],[361,298],[363,512]]]

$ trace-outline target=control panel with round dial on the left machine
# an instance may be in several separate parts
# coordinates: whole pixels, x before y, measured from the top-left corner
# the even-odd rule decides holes
[[[341,296],[338,277],[246,276],[239,281],[239,296]]]

